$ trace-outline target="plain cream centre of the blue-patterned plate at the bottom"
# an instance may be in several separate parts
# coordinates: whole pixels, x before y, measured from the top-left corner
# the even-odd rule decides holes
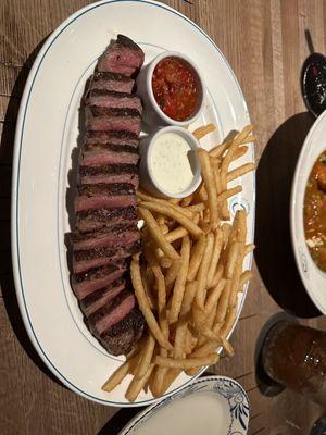
[[[159,409],[133,435],[225,435],[230,422],[226,400],[211,391],[195,393]]]

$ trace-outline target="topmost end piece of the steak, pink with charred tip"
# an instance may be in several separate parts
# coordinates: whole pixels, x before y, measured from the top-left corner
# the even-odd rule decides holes
[[[117,35],[116,41],[101,55],[97,71],[135,75],[143,63],[143,51],[131,39]]]

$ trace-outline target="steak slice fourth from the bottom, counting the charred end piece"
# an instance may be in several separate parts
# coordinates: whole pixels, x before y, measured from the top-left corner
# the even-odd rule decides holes
[[[75,295],[82,300],[92,291],[103,288],[122,277],[126,270],[127,264],[121,262],[118,265],[95,268],[87,272],[76,273],[72,283]]]

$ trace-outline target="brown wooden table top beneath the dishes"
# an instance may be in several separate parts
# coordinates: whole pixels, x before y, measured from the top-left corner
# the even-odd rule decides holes
[[[1,434],[117,433],[136,411],[120,411],[76,396],[37,357],[20,318],[10,260],[10,183],[15,121],[28,71],[47,36],[87,0],[0,2],[0,432]],[[285,390],[265,397],[258,387],[254,349],[265,322],[286,309],[326,328],[298,278],[289,243],[288,206],[293,166],[313,120],[299,79],[309,53],[326,52],[322,0],[166,0],[199,24],[234,69],[256,125],[258,209],[255,277],[231,343],[236,355],[212,372],[235,377],[251,400],[249,434],[306,434],[322,409]],[[259,271],[258,271],[259,268]],[[110,423],[105,427],[105,423]],[[102,430],[103,428],[103,430]],[[105,432],[106,431],[106,432]]]

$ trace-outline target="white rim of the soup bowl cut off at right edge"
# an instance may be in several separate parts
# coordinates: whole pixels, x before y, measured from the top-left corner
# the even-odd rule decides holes
[[[291,238],[297,266],[303,285],[317,309],[326,314],[326,273],[314,263],[304,237],[303,202],[311,170],[326,149],[326,111],[311,127],[296,167],[291,192]]]

